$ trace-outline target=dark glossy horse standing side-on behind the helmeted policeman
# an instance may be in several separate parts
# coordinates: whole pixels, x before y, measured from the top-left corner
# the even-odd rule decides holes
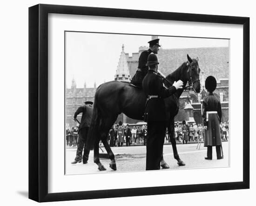
[[[173,73],[169,74],[165,79],[165,85],[171,86],[172,82],[182,80],[184,86],[189,82],[189,88],[194,89],[196,93],[200,92],[198,59],[191,59],[187,55],[188,61],[184,62]],[[174,117],[179,111],[179,98],[184,91],[183,89],[165,99],[166,111],[170,114],[168,121],[168,133],[173,147],[174,158],[178,161],[179,166],[185,163],[180,159],[177,152],[176,141],[174,137]],[[106,170],[99,159],[99,142],[102,141],[111,159],[110,168],[116,170],[115,155],[112,152],[107,136],[108,132],[115,123],[118,114],[124,113],[129,118],[142,120],[145,110],[146,96],[142,89],[130,86],[128,83],[120,81],[110,81],[101,84],[95,93],[94,110],[91,126],[88,133],[88,141],[86,149],[94,149],[94,163],[98,169]],[[166,164],[162,158],[161,165]]]

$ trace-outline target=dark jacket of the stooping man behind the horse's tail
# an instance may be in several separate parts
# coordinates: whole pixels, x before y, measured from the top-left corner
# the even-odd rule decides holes
[[[91,124],[92,116],[93,116],[93,107],[92,106],[80,106],[74,113],[74,118],[77,117],[78,114],[82,113],[82,118],[80,125],[78,127],[79,131],[83,127],[89,127]]]

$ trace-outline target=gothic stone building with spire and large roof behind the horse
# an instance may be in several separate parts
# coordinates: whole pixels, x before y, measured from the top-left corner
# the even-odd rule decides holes
[[[157,37],[152,37],[152,39]],[[222,104],[222,121],[229,120],[229,47],[206,47],[206,48],[182,48],[182,49],[164,49],[160,47],[157,54],[159,70],[168,75],[178,68],[184,61],[187,61],[187,54],[191,58],[199,57],[199,66],[201,68],[200,81],[201,92],[185,91],[180,97],[179,113],[175,117],[175,121],[186,120],[187,122],[202,123],[202,100],[207,95],[204,88],[205,78],[209,75],[216,77],[217,87],[215,93],[219,95]],[[148,47],[139,47],[137,53],[129,56],[124,51],[124,45],[121,47],[121,54],[117,65],[116,73],[113,79],[117,81],[129,82],[134,76],[138,60],[141,52],[147,50]],[[96,83],[93,88],[76,88],[74,79],[71,88],[66,89],[66,115],[67,124],[69,126],[76,125],[73,115],[76,109],[83,104],[84,101],[94,101],[96,91]],[[133,120],[121,114],[115,123],[122,121],[123,123],[135,124],[141,120]]]

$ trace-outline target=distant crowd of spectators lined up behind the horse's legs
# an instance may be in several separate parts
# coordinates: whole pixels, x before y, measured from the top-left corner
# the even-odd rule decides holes
[[[224,122],[220,124],[222,141],[229,139],[229,124]],[[66,129],[66,146],[77,146],[78,127],[73,126]],[[175,140],[177,143],[187,144],[188,142],[203,141],[204,127],[202,124],[181,124],[177,122],[174,127]],[[121,122],[113,125],[108,133],[108,142],[113,146],[131,146],[146,145],[147,143],[147,125],[129,126]],[[170,137],[166,130],[165,143],[169,143]],[[101,143],[100,143],[101,144]]]

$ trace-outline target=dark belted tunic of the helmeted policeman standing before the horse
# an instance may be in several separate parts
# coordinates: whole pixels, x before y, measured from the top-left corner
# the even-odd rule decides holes
[[[176,92],[175,86],[171,86],[169,89],[166,89],[163,86],[162,78],[157,73],[155,73],[155,71],[148,70],[147,75],[142,81],[142,88],[146,96],[158,95],[158,98],[151,98],[147,101],[144,120],[168,120],[164,99]]]

